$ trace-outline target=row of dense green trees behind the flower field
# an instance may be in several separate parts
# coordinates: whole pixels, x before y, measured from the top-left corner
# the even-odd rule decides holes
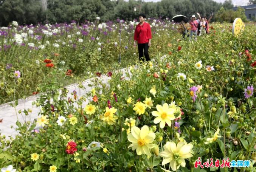
[[[43,8],[43,3],[47,3]],[[233,8],[231,0],[217,3],[213,0],[162,0],[161,2],[142,2],[142,0],[0,0],[0,26],[12,21],[19,24],[61,23],[76,20],[102,21],[133,20],[140,12],[150,18],[171,18],[176,14],[191,16],[200,12],[209,17],[211,12]],[[136,11],[134,9],[137,9]],[[45,9],[45,10],[43,10]]]

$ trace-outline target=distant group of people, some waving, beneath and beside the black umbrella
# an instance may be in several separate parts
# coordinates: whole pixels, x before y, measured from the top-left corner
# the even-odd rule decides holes
[[[195,15],[192,15],[190,21],[188,20],[188,18],[185,17],[180,23],[180,27],[178,28],[178,31],[182,33],[183,38],[186,39],[186,37],[189,36],[189,39],[191,40],[192,37],[194,36],[194,39],[196,40],[197,36],[209,33],[209,22],[213,17],[213,13],[209,17],[209,19],[207,19],[206,17],[201,17],[198,12],[197,12],[197,15],[198,15],[197,19]],[[189,30],[190,30],[190,34],[189,34]]]

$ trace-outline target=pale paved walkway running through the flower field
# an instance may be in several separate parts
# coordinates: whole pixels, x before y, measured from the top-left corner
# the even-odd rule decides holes
[[[127,78],[125,76],[125,74],[127,72],[130,73],[130,68],[123,68],[121,70],[121,73],[123,73],[123,76],[125,77],[125,79]],[[78,87],[78,84],[72,84],[72,85],[68,85],[67,88],[68,89],[68,94],[67,94],[67,98],[68,97],[73,97],[71,95],[71,93],[73,92],[73,90],[76,90],[78,93],[78,97],[85,95],[86,93],[88,93],[90,90],[92,90],[92,87],[88,86],[89,84],[92,84],[93,80],[95,80],[96,77],[91,78],[91,79],[87,79],[85,80],[82,84],[84,85],[85,89],[81,89]],[[101,77],[97,77],[98,79],[100,79],[103,83],[108,83],[108,80],[110,79],[110,77],[106,76],[106,75],[102,75]],[[36,101],[36,99],[39,98],[39,96],[30,96],[28,98],[24,99],[19,99],[18,101],[18,105],[16,106],[16,110],[14,107],[12,107],[11,105],[9,105],[12,102],[6,103],[6,104],[2,104],[0,105],[0,119],[3,119],[2,122],[0,122],[0,133],[1,135],[5,135],[6,138],[8,139],[9,137],[14,137],[15,135],[19,134],[15,129],[16,129],[16,121],[17,118],[19,119],[20,122],[24,122],[24,121],[33,121],[34,119],[38,118],[38,114],[40,112],[40,107],[36,107],[36,105],[32,105],[33,101]],[[86,101],[87,103],[89,101]],[[83,104],[83,107],[85,107],[85,105],[87,103]],[[25,116],[23,113],[23,115],[19,114],[18,111],[19,110],[24,110],[24,108],[26,109],[32,109],[32,112],[29,113],[28,116]],[[17,115],[16,115],[17,114]],[[13,126],[11,128],[11,126]],[[9,137],[8,137],[9,136]]]

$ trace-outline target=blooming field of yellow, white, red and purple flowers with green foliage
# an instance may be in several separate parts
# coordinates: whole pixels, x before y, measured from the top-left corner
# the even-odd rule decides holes
[[[42,93],[34,102],[38,119],[17,122],[16,138],[0,136],[3,171],[255,170],[256,27],[246,25],[234,37],[231,24],[216,23],[189,42],[171,22],[150,20],[154,59],[134,66],[134,24],[56,24],[49,26],[58,30],[53,35],[43,31],[47,26],[33,33],[27,26],[28,40],[21,36],[9,48],[3,44],[25,31],[1,29],[1,101],[16,92]],[[121,67],[128,67],[126,77],[116,70]],[[67,98],[65,85],[88,77],[95,77],[92,91],[79,97],[73,90]]]

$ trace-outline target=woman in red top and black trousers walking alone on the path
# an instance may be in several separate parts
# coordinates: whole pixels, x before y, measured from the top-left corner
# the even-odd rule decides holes
[[[138,42],[138,51],[139,51],[139,60],[144,62],[143,50],[146,61],[150,61],[149,58],[149,46],[151,46],[151,28],[149,23],[145,22],[146,15],[140,14],[139,21],[140,23],[136,26],[134,32],[134,43],[133,46],[136,47],[136,41]]]

